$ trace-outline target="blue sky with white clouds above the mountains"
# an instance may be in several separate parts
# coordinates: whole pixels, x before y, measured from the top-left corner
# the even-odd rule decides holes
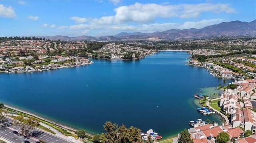
[[[256,0],[0,0],[0,37],[103,36],[256,19]]]

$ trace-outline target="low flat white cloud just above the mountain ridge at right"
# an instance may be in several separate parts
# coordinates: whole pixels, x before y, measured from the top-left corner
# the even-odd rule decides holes
[[[203,28],[209,25],[219,24],[223,22],[223,19],[212,19],[212,20],[201,20],[200,22],[185,22],[184,24],[178,26],[179,29],[189,29],[189,28]]]

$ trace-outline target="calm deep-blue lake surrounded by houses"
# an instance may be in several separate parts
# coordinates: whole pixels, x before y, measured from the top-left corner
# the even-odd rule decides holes
[[[164,51],[140,60],[92,59],[81,67],[1,73],[0,102],[90,133],[101,133],[106,121],[154,129],[164,138],[189,128],[191,120],[222,123],[218,115],[199,113],[193,96],[219,92],[213,87],[222,78],[185,65],[189,56]]]

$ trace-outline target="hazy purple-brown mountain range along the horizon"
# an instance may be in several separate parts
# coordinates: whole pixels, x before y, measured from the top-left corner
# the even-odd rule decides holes
[[[79,36],[68,37],[62,35],[47,36],[46,39],[52,40],[88,40],[88,41],[128,41],[128,40],[152,40],[152,39],[202,39],[212,37],[241,37],[256,36],[256,20],[252,22],[222,22],[220,24],[210,25],[201,29],[170,29],[162,32],[141,33],[122,32],[113,36]]]

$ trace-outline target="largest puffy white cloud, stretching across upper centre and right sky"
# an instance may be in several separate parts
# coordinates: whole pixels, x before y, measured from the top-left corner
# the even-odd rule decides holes
[[[115,8],[116,15],[103,16],[101,18],[80,18],[72,17],[76,23],[94,24],[122,24],[126,22],[150,23],[156,18],[196,18],[203,12],[227,12],[234,13],[234,9],[229,4],[179,4],[179,5],[160,5],[160,4],[141,4],[136,2],[130,6],[120,6]]]

